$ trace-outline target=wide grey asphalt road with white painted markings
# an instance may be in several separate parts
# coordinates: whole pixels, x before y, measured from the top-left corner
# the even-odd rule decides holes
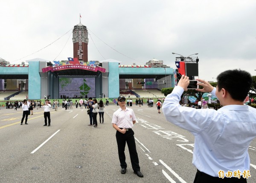
[[[166,121],[157,107],[132,106],[141,172],[131,168],[128,148],[126,174],[120,173],[116,131],[112,115],[119,107],[105,107],[104,124],[88,126],[86,109],[51,109],[51,126],[44,127],[44,110],[34,109],[28,125],[20,125],[22,109],[0,110],[1,183],[192,183],[193,135]],[[99,123],[99,115],[97,116]],[[127,147],[127,146],[126,146]],[[251,158],[248,183],[256,182],[256,141],[248,150]]]

